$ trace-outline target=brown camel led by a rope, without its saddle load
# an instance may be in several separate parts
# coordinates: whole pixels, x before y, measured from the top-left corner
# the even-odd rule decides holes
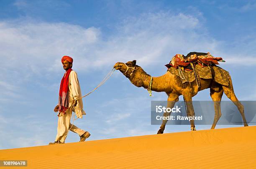
[[[145,89],[149,88],[151,83],[151,90],[155,92],[166,92],[168,96],[167,107],[174,107],[175,102],[179,100],[179,96],[183,95],[184,101],[187,105],[187,116],[195,116],[192,97],[194,97],[198,92],[197,82],[194,80],[193,82],[186,84],[182,84],[182,81],[176,75],[171,74],[167,71],[164,75],[159,77],[151,77],[148,75],[140,66],[136,65],[136,60],[129,61],[127,63],[117,62],[114,65],[115,70],[119,70],[125,77],[127,77],[133,85],[136,87],[144,87]],[[213,124],[211,129],[214,129],[218,120],[221,117],[220,111],[220,101],[223,96],[223,92],[227,95],[227,97],[233,101],[233,103],[238,108],[241,116],[243,118],[244,126],[248,126],[246,122],[246,118],[244,115],[244,107],[237,99],[233,85],[231,81],[231,77],[228,77],[229,84],[228,86],[220,85],[217,82],[214,82],[213,79],[202,79],[200,78],[201,88],[200,90],[210,88],[210,97],[212,101],[214,101],[214,109],[215,116],[213,120]],[[170,112],[165,112],[164,117],[170,115]],[[163,120],[160,129],[157,134],[164,133],[165,125],[168,120]],[[190,120],[191,130],[194,131],[195,123],[194,120]]]

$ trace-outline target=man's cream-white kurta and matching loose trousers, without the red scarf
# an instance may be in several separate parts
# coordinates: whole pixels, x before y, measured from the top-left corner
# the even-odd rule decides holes
[[[77,78],[77,73],[72,70],[69,74],[69,107],[72,106],[72,100],[81,97],[81,89],[79,85],[79,81]],[[77,100],[77,105],[74,107],[76,116],[78,118],[82,118],[82,115],[85,114],[83,110],[83,102],[82,99]],[[57,135],[55,142],[58,140],[62,143],[65,142],[67,137],[68,130],[77,133],[79,136],[85,133],[84,130],[79,129],[74,124],[70,124],[71,114],[60,114],[58,119],[58,127],[57,127]]]

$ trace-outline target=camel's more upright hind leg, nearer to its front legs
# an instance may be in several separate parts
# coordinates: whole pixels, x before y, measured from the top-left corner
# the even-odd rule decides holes
[[[218,120],[221,117],[220,101],[223,96],[223,89],[221,88],[220,91],[218,91],[218,92],[216,92],[213,89],[210,89],[210,95],[212,97],[212,101],[214,102],[214,110],[215,110],[214,120],[213,120],[212,128],[211,128],[211,129],[214,129]]]

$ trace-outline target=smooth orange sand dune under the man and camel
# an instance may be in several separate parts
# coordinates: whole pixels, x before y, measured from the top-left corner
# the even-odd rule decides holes
[[[5,149],[0,160],[28,160],[24,168],[40,169],[251,169],[256,168],[256,126]]]

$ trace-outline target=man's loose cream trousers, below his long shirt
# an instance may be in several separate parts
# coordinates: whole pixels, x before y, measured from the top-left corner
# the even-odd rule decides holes
[[[66,113],[63,116],[59,116],[55,142],[59,140],[60,142],[64,143],[68,130],[77,133],[79,136],[82,136],[85,133],[84,130],[79,129],[74,124],[70,124],[70,117],[71,115],[69,113]]]

